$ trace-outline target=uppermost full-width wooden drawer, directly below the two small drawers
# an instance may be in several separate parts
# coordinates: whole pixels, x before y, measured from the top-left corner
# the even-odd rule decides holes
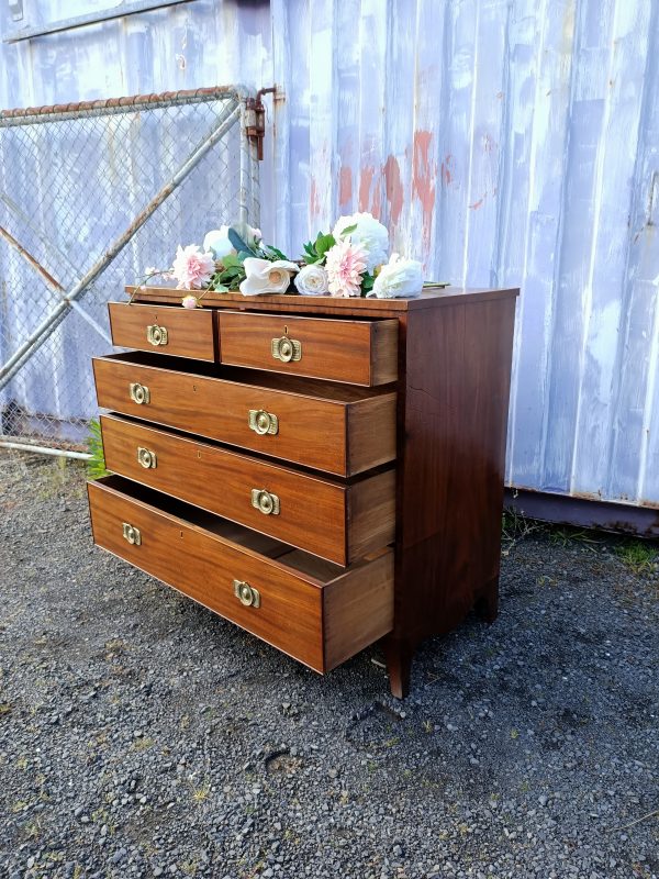
[[[96,358],[99,405],[338,476],[395,458],[393,391],[159,363],[142,353]]]

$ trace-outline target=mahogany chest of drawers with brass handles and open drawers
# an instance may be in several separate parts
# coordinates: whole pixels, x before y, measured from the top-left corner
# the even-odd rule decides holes
[[[317,671],[384,638],[404,696],[496,615],[517,292],[111,303],[94,542]]]

